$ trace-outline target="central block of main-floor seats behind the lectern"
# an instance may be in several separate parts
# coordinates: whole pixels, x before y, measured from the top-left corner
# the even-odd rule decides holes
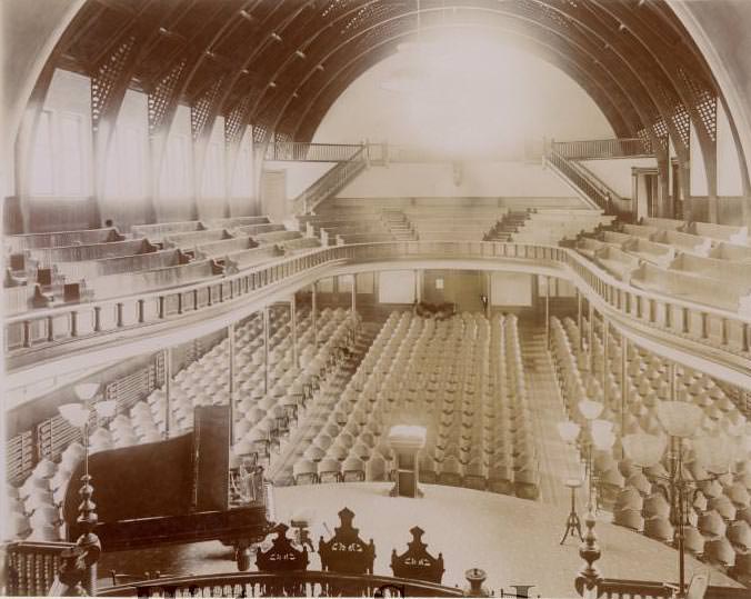
[[[298,447],[298,485],[385,480],[393,456],[383,436],[412,423],[427,428],[424,482],[539,495],[514,317],[393,312],[328,413]]]

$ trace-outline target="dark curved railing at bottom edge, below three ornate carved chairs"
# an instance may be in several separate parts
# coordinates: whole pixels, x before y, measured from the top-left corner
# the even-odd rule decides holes
[[[99,589],[99,597],[464,597],[405,578],[322,571],[232,572],[162,578]]]

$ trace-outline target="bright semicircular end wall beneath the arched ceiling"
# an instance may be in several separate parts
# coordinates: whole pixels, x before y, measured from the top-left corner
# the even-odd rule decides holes
[[[565,73],[482,37],[443,32],[427,56],[400,51],[383,59],[337,99],[314,141],[388,140],[467,156],[519,156],[524,140],[543,136],[613,137],[597,104]],[[412,92],[384,89],[403,76],[423,83]]]

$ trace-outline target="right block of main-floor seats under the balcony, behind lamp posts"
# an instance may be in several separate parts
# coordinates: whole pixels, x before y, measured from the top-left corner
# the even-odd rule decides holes
[[[577,402],[584,398],[602,400],[600,383],[603,380],[603,350],[594,337],[594,372],[585,368],[583,352],[579,347],[580,331],[573,321],[551,322],[553,352],[558,366],[559,382],[572,418],[578,416]],[[605,409],[601,418],[613,422],[613,432],[620,439],[621,419],[624,433],[638,431],[659,433],[657,402],[670,398],[669,368],[664,360],[642,350],[629,348],[627,356],[627,393],[624,412],[621,416],[620,347],[609,345],[604,380],[607,386]],[[748,435],[749,423],[724,391],[707,375],[688,368],[677,368],[677,399],[689,401],[704,410],[702,432],[710,436]],[[698,482],[699,491],[692,498],[687,527],[687,548],[729,573],[751,580],[750,547],[747,543],[751,507],[751,453],[739,445],[733,472],[710,481],[711,477],[697,461],[687,441],[683,476]],[[594,460],[601,498],[612,506],[615,523],[643,532],[654,539],[672,542],[670,507],[660,495],[655,478],[670,470],[668,459],[643,472],[622,458],[620,442],[612,451],[598,452]]]

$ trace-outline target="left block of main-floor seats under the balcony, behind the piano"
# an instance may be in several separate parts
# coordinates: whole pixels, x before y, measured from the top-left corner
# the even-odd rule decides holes
[[[238,401],[232,463],[242,458],[269,465],[282,438],[294,426],[298,410],[303,409],[302,388],[326,370],[330,357],[344,343],[351,320],[344,310],[322,310],[319,316],[320,348],[312,345],[310,318],[298,321],[301,368],[292,363],[292,338],[288,311],[272,311],[270,336],[269,393],[263,392],[263,348],[260,317],[236,329]],[[180,370],[171,387],[170,435],[188,432],[193,425],[196,406],[229,401],[229,341],[216,345],[199,360]],[[90,451],[129,447],[163,439],[166,430],[164,391],[157,389],[148,398],[100,422],[89,437]],[[66,536],[60,507],[67,486],[77,485],[70,477],[83,457],[83,448],[73,442],[59,461],[42,459],[19,487],[7,487],[14,538],[54,541]]]

